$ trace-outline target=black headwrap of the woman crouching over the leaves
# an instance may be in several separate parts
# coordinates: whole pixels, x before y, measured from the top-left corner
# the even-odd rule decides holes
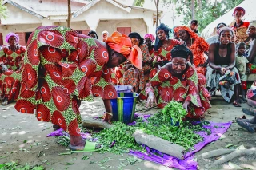
[[[170,51],[171,57],[182,57],[186,60],[190,57],[193,58],[193,53],[186,47],[185,44],[175,45],[174,48]]]

